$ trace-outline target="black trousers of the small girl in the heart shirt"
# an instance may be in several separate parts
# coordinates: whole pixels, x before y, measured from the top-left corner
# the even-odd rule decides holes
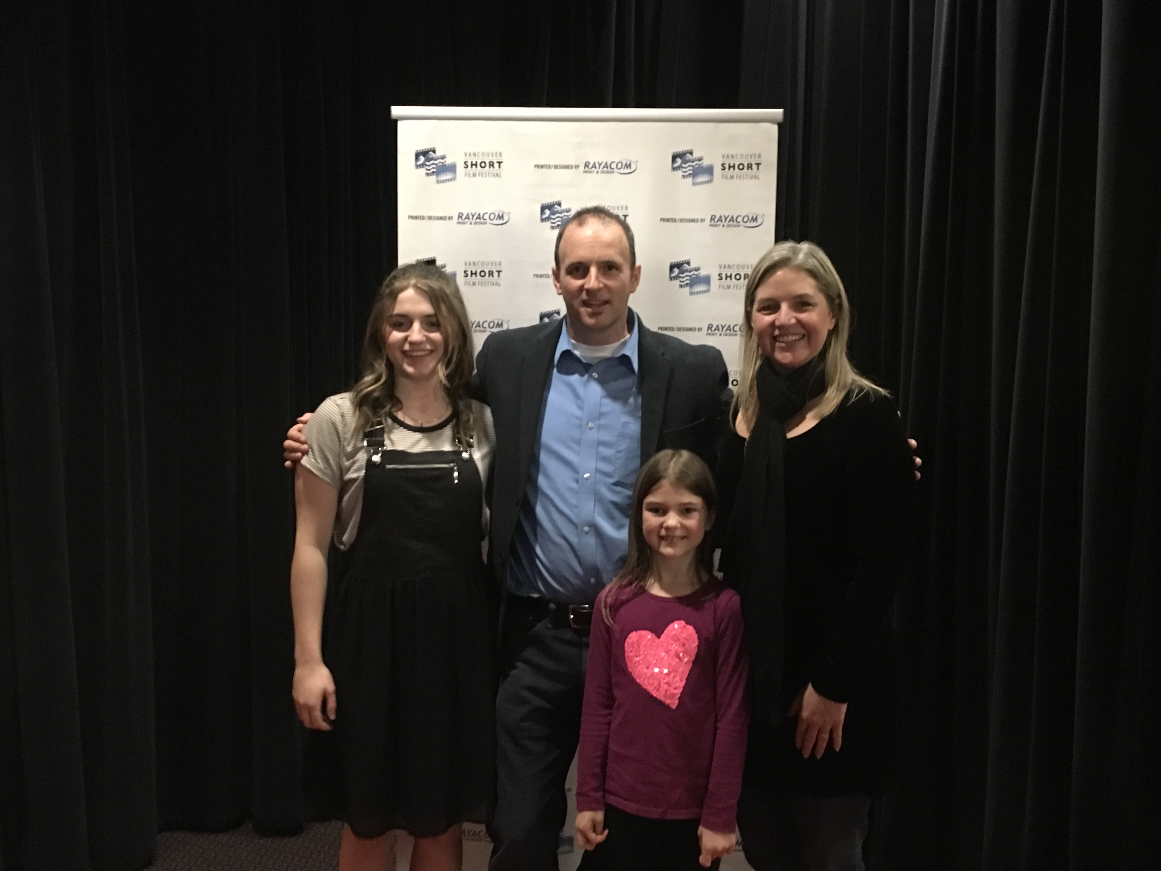
[[[579,871],[702,871],[698,820],[650,820],[605,806],[608,836],[580,859]],[[721,859],[714,859],[716,871]]]

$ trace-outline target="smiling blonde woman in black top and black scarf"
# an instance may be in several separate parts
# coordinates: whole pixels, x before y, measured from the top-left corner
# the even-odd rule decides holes
[[[747,283],[734,433],[719,470],[752,715],[738,823],[757,871],[863,869],[889,775],[888,610],[913,460],[889,395],[846,355],[825,253],[781,242]]]

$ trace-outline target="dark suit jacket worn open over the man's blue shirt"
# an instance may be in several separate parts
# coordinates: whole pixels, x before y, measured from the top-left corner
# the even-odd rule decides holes
[[[496,424],[489,553],[502,595],[563,324],[560,319],[492,333],[476,358],[475,395],[491,406]],[[637,329],[641,462],[664,448],[686,448],[713,470],[730,397],[721,352],[654,332],[640,318]]]

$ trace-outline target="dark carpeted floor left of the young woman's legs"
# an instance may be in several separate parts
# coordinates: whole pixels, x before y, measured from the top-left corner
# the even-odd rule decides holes
[[[163,832],[149,871],[334,871],[342,823],[307,827],[294,837],[265,837],[246,823],[233,832]]]

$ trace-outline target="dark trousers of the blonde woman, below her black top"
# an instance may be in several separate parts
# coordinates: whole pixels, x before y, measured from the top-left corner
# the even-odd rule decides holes
[[[742,850],[755,871],[864,871],[871,797],[801,796],[745,786],[737,804]]]

